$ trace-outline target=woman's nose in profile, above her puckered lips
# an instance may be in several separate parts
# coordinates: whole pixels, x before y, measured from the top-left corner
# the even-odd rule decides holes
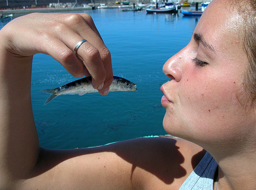
[[[180,82],[182,78],[182,61],[184,61],[184,58],[181,50],[165,62],[163,66],[164,74],[170,79]]]

